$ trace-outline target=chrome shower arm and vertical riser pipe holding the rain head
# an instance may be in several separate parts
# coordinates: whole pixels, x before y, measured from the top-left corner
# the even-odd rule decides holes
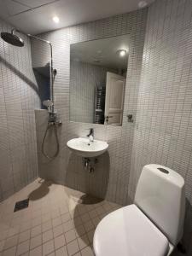
[[[11,33],[14,35],[15,32],[20,32],[20,30],[13,28],[11,30]],[[49,47],[50,47],[50,74],[51,74],[51,79],[50,79],[50,100],[51,100],[51,102],[53,102],[53,106],[51,108],[51,113],[54,113],[54,89],[53,89],[54,78],[53,78],[53,47],[52,47],[52,44],[49,41],[47,41],[47,40],[44,40],[42,38],[38,38],[37,36],[33,36],[31,34],[26,34],[26,36],[28,36],[29,38],[33,38],[33,39],[36,39],[38,41],[44,42],[46,44],[49,44]]]

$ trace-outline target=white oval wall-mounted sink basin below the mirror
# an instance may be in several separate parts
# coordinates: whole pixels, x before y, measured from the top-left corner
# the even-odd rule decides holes
[[[96,157],[108,149],[108,143],[88,138],[78,137],[67,142],[68,148],[82,157]]]

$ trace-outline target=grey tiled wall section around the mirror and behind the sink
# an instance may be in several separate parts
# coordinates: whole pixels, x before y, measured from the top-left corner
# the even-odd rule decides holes
[[[136,114],[137,93],[143,58],[143,42],[147,9],[97,20],[79,26],[60,29],[41,35],[53,44],[54,67],[58,73],[55,79],[55,108],[61,115],[62,126],[58,129],[60,136],[60,155],[49,161],[41,154],[41,143],[47,124],[46,111],[37,113],[38,164],[39,175],[65,183],[66,185],[86,191],[90,194],[106,197],[110,201],[125,204],[128,199],[128,182],[131,166],[131,148],[134,125],[127,122],[126,114]],[[125,110],[123,125],[106,126],[69,122],[69,72],[70,44],[130,34],[129,65],[125,90]],[[38,50],[37,50],[38,52]],[[44,59],[44,54],[38,54]],[[70,154],[66,143],[73,137],[85,137],[88,128],[95,128],[96,139],[109,143],[108,154],[99,157],[96,171],[85,172],[82,159]],[[54,143],[47,140],[46,147],[51,153]]]

